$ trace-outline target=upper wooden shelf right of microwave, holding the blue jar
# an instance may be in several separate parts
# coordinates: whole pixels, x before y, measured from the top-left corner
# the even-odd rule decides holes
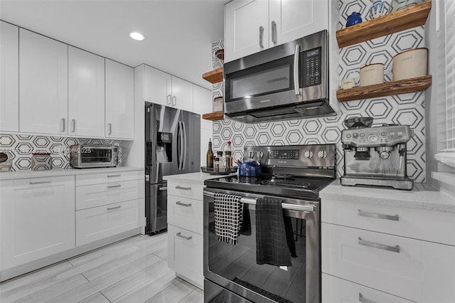
[[[390,33],[422,26],[427,21],[430,9],[432,9],[432,0],[427,0],[424,3],[395,11],[392,14],[343,28],[340,31],[336,31],[338,46],[344,48],[373,38],[389,35]]]

